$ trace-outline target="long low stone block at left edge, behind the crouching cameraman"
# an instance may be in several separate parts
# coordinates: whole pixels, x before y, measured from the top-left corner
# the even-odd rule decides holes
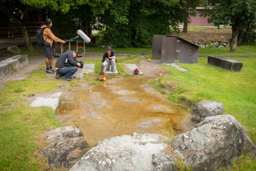
[[[21,68],[28,65],[28,55],[16,55],[0,62],[0,79],[12,71],[12,68]]]

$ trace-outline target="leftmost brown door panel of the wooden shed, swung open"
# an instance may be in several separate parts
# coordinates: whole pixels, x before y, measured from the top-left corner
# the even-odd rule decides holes
[[[152,57],[154,59],[161,59],[163,37],[167,37],[167,36],[154,35],[152,38]]]

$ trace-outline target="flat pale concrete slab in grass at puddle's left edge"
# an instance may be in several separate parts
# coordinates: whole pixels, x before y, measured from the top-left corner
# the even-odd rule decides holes
[[[56,110],[59,105],[59,99],[61,97],[60,93],[53,93],[52,95],[48,95],[46,97],[37,97],[29,106],[39,107],[39,106],[49,106],[53,110]]]

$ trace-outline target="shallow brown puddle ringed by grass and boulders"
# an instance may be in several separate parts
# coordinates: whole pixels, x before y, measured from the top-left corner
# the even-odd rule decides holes
[[[152,91],[148,78],[107,78],[92,89],[70,89],[75,99],[62,101],[57,115],[68,126],[79,127],[89,145],[133,132],[183,130],[185,110]],[[174,130],[177,135],[180,131]]]

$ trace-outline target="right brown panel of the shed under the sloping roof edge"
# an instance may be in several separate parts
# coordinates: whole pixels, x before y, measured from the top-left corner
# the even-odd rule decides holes
[[[178,39],[177,62],[184,64],[197,63],[199,48],[182,39]]]

